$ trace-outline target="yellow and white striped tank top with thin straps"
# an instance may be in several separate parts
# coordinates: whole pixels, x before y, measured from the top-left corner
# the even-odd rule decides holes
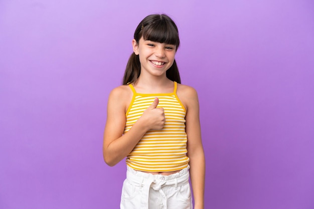
[[[132,101],[126,111],[126,133],[143,111],[159,98],[157,108],[165,109],[166,121],[162,129],[150,129],[126,156],[126,164],[133,169],[149,172],[181,170],[188,166],[186,109],[177,96],[177,82],[172,93],[137,93],[132,84]]]

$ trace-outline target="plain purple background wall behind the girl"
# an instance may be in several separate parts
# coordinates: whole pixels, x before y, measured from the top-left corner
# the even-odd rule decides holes
[[[312,0],[1,0],[0,208],[118,208],[107,96],[156,12],[199,92],[205,208],[314,208]]]

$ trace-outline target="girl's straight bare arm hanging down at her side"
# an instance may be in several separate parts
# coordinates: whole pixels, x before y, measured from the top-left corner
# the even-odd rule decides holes
[[[181,91],[181,97],[182,102],[187,108],[187,149],[188,156],[190,158],[191,183],[195,199],[194,208],[204,209],[205,155],[201,137],[198,95],[195,89],[192,87],[184,86],[183,89],[184,91]]]

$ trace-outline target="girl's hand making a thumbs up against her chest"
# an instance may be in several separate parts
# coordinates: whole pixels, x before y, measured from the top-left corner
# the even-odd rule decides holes
[[[166,117],[164,108],[157,108],[159,104],[158,97],[144,110],[140,119],[144,120],[144,124],[149,129],[162,129],[164,127]]]

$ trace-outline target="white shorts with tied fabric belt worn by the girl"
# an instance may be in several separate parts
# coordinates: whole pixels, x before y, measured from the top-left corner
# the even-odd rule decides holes
[[[120,208],[192,209],[189,167],[171,175],[153,175],[127,166]]]

